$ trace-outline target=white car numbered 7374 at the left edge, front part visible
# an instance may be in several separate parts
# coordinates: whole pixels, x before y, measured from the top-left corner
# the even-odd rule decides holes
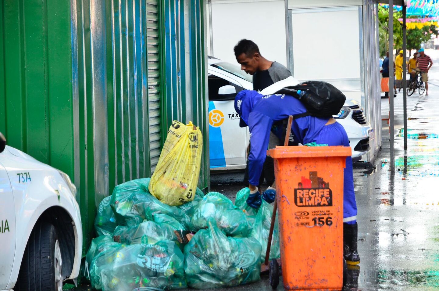
[[[62,290],[76,280],[82,226],[65,173],[6,146],[0,133],[0,290]]]

